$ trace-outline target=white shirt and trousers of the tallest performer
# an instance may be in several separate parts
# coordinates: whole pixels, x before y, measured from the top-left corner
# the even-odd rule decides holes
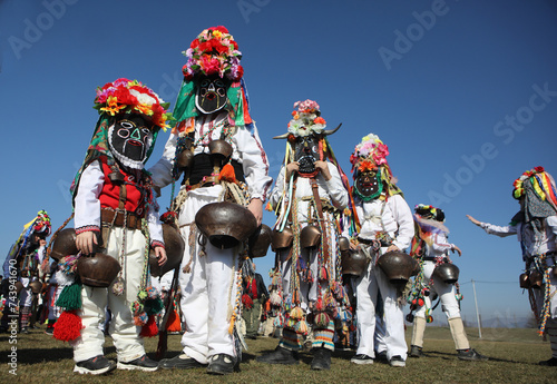
[[[202,115],[195,119],[195,140],[201,139],[201,141],[195,146],[194,155],[208,152],[206,145],[212,139],[221,138],[221,130],[215,128],[222,126],[226,119],[226,112],[221,112],[216,117]],[[149,169],[153,181],[158,187],[172,183],[177,139],[177,132],[173,131],[163,157]],[[250,198],[260,198],[264,201],[272,179],[267,176],[268,163],[257,129],[254,127],[251,132],[246,128],[236,128],[231,139],[232,159],[242,165]],[[179,273],[180,307],[183,321],[187,326],[182,337],[182,345],[184,353],[201,364],[207,364],[207,358],[213,355],[236,355],[229,325],[237,289],[237,250],[219,249],[207,242],[206,255],[201,256],[198,234],[195,242],[190,243],[195,215],[203,206],[222,201],[222,195],[223,187],[219,184],[188,190],[178,217],[180,234],[186,243]],[[195,249],[190,249],[192,244]],[[184,273],[182,269],[188,264],[190,256],[193,256],[190,273]]]

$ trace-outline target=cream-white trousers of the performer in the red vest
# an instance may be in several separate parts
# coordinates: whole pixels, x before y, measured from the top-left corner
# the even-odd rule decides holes
[[[143,268],[145,265],[145,236],[139,229],[124,229],[120,227],[110,230],[106,242],[106,254],[118,259],[121,253],[124,232],[126,232],[126,249],[124,268],[125,291],[120,296],[113,293],[113,284],[108,288],[89,287],[81,289],[82,307],[80,311],[84,329],[81,336],[74,343],[74,361],[82,362],[91,357],[104,355],[102,345],[105,335],[99,325],[105,321],[105,307],[113,312],[109,333],[118,355],[118,361],[128,363],[145,355],[140,326],[134,324],[131,303],[137,299],[141,285]]]

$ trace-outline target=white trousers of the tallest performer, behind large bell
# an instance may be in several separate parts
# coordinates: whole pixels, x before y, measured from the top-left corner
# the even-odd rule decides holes
[[[179,272],[180,307],[186,332],[182,336],[184,353],[207,364],[216,354],[235,356],[234,339],[228,332],[236,302],[237,249],[219,249],[206,243],[205,256],[197,234],[193,249],[192,270],[183,268],[190,258],[189,232],[195,214],[206,204],[218,201],[221,186],[190,190],[179,215],[180,234],[186,243]],[[237,318],[236,321],[241,321]]]

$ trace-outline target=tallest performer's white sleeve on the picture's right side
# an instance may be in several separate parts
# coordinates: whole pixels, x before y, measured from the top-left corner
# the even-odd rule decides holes
[[[257,128],[254,125],[253,132],[246,128],[238,128],[233,140],[242,158],[250,198],[260,198],[265,201],[268,198],[273,179],[268,176],[268,159],[261,144]]]

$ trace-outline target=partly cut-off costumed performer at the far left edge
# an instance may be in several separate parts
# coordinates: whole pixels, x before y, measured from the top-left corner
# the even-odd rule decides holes
[[[7,298],[0,332],[8,331],[10,319],[17,313],[18,306],[16,291],[10,289],[11,284],[19,282],[19,331],[29,333],[32,315],[33,296],[40,292],[39,266],[46,256],[46,238],[50,235],[50,218],[45,210],[25,226],[19,239],[13,244],[3,264],[2,292]],[[11,326],[10,326],[11,327]]]

